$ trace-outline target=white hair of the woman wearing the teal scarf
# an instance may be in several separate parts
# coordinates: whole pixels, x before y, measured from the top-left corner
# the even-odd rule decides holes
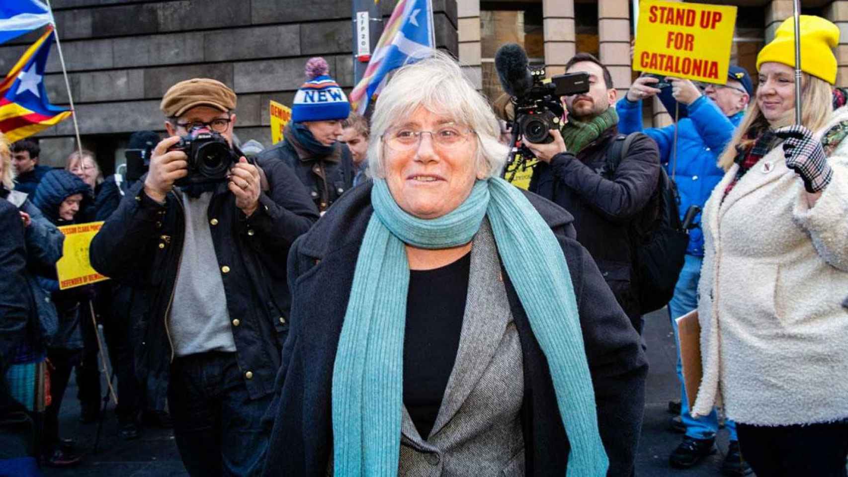
[[[467,125],[477,134],[477,176],[499,175],[509,147],[499,141],[500,125],[486,99],[474,89],[460,65],[447,53],[400,68],[377,98],[371,118],[368,166],[371,175],[385,177],[382,135],[410,117],[417,108],[442,114]]]

